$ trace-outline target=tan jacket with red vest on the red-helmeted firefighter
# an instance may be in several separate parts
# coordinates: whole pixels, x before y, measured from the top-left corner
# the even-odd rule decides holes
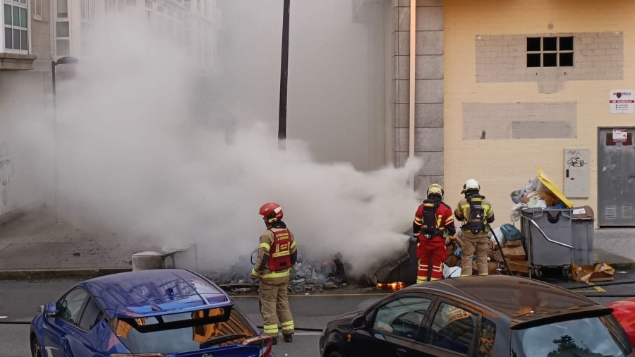
[[[251,275],[267,284],[289,282],[291,267],[296,263],[297,256],[294,234],[284,223],[274,222],[260,236],[258,259]]]

